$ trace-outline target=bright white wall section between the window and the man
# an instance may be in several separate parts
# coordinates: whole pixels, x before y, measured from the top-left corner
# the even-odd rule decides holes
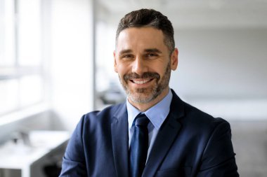
[[[92,0],[52,1],[52,107],[70,130],[93,108],[92,5]]]

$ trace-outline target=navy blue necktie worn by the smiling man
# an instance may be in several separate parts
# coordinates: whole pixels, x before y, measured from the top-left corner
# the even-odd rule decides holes
[[[141,177],[148,154],[148,122],[145,114],[136,116],[130,145],[131,177]]]

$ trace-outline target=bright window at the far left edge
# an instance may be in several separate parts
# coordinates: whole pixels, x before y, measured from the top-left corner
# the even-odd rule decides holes
[[[41,0],[0,0],[0,115],[43,100]]]

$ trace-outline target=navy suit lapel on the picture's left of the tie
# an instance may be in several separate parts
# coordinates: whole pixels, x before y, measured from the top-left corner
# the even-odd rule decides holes
[[[126,104],[120,106],[117,113],[115,113],[111,131],[112,150],[117,176],[129,176],[129,135]]]

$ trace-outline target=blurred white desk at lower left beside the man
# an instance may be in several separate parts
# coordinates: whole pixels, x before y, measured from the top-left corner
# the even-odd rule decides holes
[[[32,164],[65,146],[69,137],[69,132],[63,131],[32,131],[30,146],[8,141],[0,146],[0,169],[20,170],[21,177],[32,177]]]

